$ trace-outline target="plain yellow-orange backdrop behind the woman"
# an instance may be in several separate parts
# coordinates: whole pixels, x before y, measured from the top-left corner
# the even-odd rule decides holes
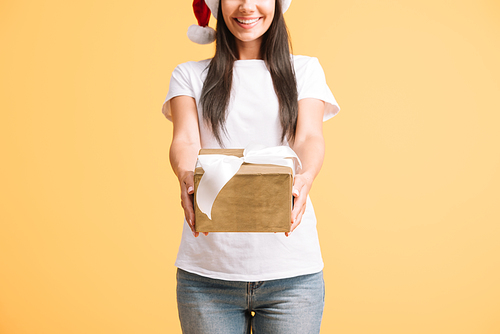
[[[500,333],[500,4],[294,0],[341,106],[311,198],[322,333]],[[161,114],[183,1],[0,5],[0,333],[180,333]],[[212,19],[211,25],[214,24]]]

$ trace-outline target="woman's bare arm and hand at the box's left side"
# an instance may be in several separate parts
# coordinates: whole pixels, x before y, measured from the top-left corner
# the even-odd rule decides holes
[[[199,233],[194,231],[194,168],[201,144],[196,102],[190,96],[177,96],[170,100],[170,108],[174,124],[170,164],[179,179],[184,216],[197,237]]]

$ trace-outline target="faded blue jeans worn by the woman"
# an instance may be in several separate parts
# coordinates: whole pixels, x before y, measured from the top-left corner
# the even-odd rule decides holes
[[[185,334],[319,333],[323,272],[238,282],[177,269],[177,306]]]

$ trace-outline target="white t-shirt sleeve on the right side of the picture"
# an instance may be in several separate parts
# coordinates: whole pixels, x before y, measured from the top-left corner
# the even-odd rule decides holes
[[[298,99],[315,98],[325,102],[323,121],[337,115],[340,107],[328,87],[323,67],[318,58],[311,57],[304,73],[304,79],[298,83]]]

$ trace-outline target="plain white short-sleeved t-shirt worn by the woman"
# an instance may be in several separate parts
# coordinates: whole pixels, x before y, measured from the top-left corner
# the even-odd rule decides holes
[[[335,116],[340,107],[326,84],[318,59],[294,55],[292,61],[298,100],[323,100],[326,102],[323,120]],[[193,97],[198,107],[201,147],[220,148],[203,121],[199,104],[209,62],[209,59],[191,61],[174,69],[162,112],[172,120],[170,99],[180,95]],[[250,143],[282,145],[278,98],[263,60],[235,61],[226,128],[225,148],[245,148]],[[289,237],[284,233],[218,232],[208,236],[200,233],[195,238],[184,220],[175,265],[210,278],[247,282],[319,272],[323,269],[323,260],[311,200],[308,196],[302,221]]]

